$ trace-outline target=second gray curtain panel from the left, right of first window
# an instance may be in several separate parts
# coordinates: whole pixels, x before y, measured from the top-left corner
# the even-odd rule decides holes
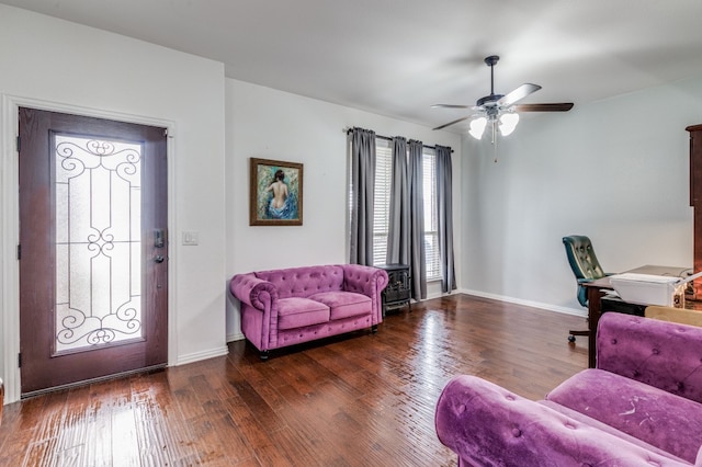
[[[390,183],[387,264],[410,264],[409,174],[407,140],[393,138],[393,180]]]

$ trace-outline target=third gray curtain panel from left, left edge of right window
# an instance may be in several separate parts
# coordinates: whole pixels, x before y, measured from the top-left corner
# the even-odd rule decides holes
[[[410,229],[410,263],[409,272],[412,276],[412,298],[427,298],[427,260],[424,259],[424,196],[422,178],[421,141],[409,141],[409,229]]]

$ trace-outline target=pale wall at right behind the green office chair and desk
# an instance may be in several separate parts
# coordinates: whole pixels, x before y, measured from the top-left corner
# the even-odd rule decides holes
[[[463,138],[466,292],[584,314],[562,237],[587,235],[608,272],[692,266],[689,139],[702,79],[528,115],[499,139]]]

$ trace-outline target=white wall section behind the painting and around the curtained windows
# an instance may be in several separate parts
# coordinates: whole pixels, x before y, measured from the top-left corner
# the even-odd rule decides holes
[[[314,99],[226,80],[227,275],[348,262],[347,135],[359,126],[384,136],[451,146],[454,210],[461,212],[461,138]],[[249,226],[249,158],[304,164],[304,223],[297,227]],[[456,220],[456,261],[461,255]],[[460,274],[460,272],[456,272]],[[428,291],[437,295],[435,284]],[[227,300],[228,339],[240,338],[238,303]]]

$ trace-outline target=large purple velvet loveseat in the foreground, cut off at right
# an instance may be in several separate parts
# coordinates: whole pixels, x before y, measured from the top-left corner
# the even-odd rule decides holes
[[[435,428],[462,467],[702,466],[702,328],[607,312],[596,368],[541,401],[456,376]]]

